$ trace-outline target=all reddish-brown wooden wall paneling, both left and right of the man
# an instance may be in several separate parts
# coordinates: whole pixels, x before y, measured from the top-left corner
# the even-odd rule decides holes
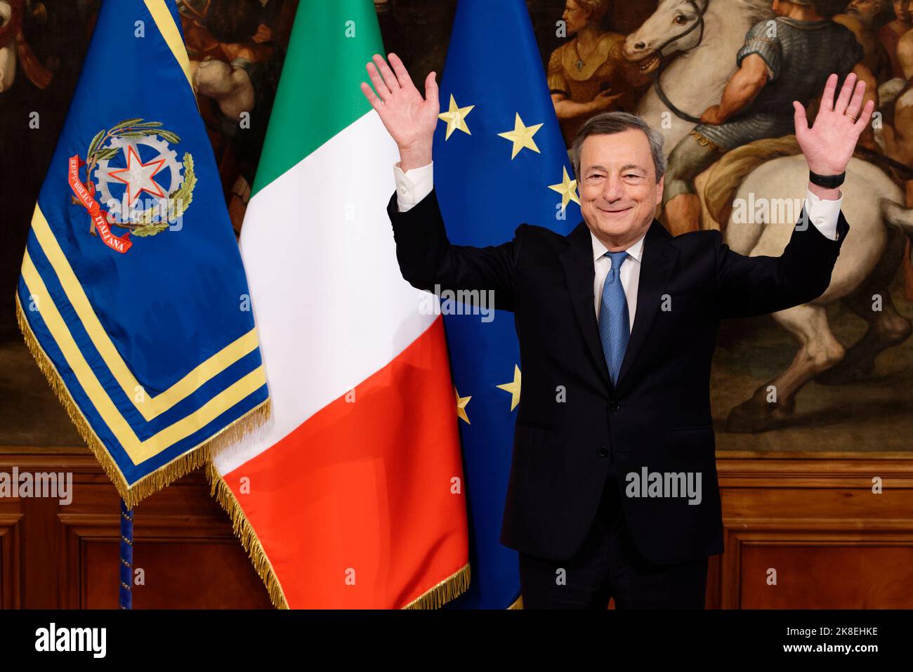
[[[907,454],[719,452],[726,551],[709,608],[913,608]],[[0,607],[117,605],[120,499],[88,451],[3,448],[0,471],[70,471],[73,501],[0,499]],[[872,478],[883,492],[872,492]],[[269,607],[198,470],[135,509],[136,608]],[[768,568],[778,583],[766,583]]]

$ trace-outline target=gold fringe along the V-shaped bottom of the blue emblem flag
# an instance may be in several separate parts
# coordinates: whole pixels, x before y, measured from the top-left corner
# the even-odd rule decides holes
[[[210,436],[203,443],[194,446],[184,453],[184,455],[175,457],[167,465],[163,465],[163,467],[156,469],[152,474],[141,478],[130,486],[127,483],[127,479],[124,478],[121,473],[121,469],[117,466],[117,463],[110,457],[107,448],[105,448],[99,436],[95,434],[95,431],[92,429],[91,425],[89,425],[86,416],[82,415],[82,411],[79,410],[79,405],[76,404],[73,397],[69,394],[67,385],[63,382],[63,378],[61,378],[54,363],[51,362],[50,358],[47,356],[47,352],[41,347],[41,343],[38,342],[35,333],[28,324],[26,313],[22,308],[22,303],[19,301],[18,292],[16,292],[16,322],[18,322],[19,331],[22,331],[23,338],[26,340],[28,352],[32,353],[32,357],[35,358],[35,362],[37,362],[41,373],[45,374],[47,383],[50,384],[51,389],[54,390],[54,394],[57,395],[60,404],[67,410],[69,419],[73,422],[73,425],[76,425],[79,436],[82,436],[82,440],[86,442],[86,446],[89,446],[89,450],[91,450],[95,458],[99,460],[101,468],[104,469],[108,478],[111,479],[114,488],[117,488],[118,493],[121,495],[121,499],[126,502],[128,509],[132,509],[142,501],[142,499],[145,499],[165,486],[170,485],[178,478],[193,471],[195,468],[202,467],[223,448],[232,446],[237,440],[243,436],[247,436],[247,434],[256,429],[259,425],[265,423],[269,418],[271,404],[269,399],[266,399],[262,404],[252,408],[245,415],[242,415],[231,425],[227,425],[215,435]]]

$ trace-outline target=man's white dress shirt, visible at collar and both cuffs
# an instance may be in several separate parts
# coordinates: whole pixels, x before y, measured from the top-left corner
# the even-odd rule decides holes
[[[396,181],[396,205],[401,213],[409,210],[426,195],[431,193],[433,187],[434,162],[413,168],[406,173],[399,167],[399,162],[394,164],[394,179]],[[840,214],[840,204],[844,200],[844,193],[835,200],[822,200],[816,194],[805,190],[805,209],[822,235],[831,240],[837,239],[837,218]],[[628,331],[634,327],[634,313],[637,310],[637,284],[640,279],[640,262],[644,254],[644,236],[637,238],[635,243],[625,251],[628,257],[624,259],[621,271],[624,297],[628,302]],[[590,232],[593,242],[593,310],[596,319],[599,319],[599,304],[603,299],[603,284],[605,276],[612,268],[612,259],[605,257],[608,249],[600,242],[599,238]]]

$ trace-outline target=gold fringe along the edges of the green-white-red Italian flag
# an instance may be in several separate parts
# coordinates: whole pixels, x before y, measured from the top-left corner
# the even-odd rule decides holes
[[[247,516],[244,515],[244,509],[241,508],[235,498],[235,493],[228,487],[225,478],[222,478],[214,464],[209,463],[206,465],[206,477],[209,478],[209,482],[212,485],[210,493],[222,505],[222,508],[226,509],[228,517],[232,521],[232,530],[234,530],[237,538],[241,540],[241,546],[247,551],[247,555],[250,556],[250,562],[253,563],[254,569],[267,587],[270,602],[277,609],[288,609],[289,602],[282,591],[282,584],[279,583],[267,553],[263,550],[263,545],[257,537],[254,526],[247,520]],[[458,595],[466,593],[468,587],[469,563],[467,562],[444,581],[437,583],[403,608],[437,609]]]

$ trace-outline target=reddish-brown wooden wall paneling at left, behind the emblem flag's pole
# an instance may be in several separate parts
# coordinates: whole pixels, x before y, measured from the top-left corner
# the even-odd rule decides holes
[[[120,497],[88,451],[48,454],[0,449],[0,471],[70,471],[73,497],[21,499],[3,507],[21,509],[25,530],[22,604],[0,595],[0,605],[29,608],[116,608]],[[3,520],[0,518],[0,520]],[[12,576],[2,556],[4,581]],[[18,547],[19,544],[16,544]],[[8,545],[14,549],[12,544]],[[209,495],[202,470],[144,499],[134,509],[134,568],[145,584],[134,585],[135,608],[270,608],[268,594],[226,512]],[[9,589],[11,595],[15,595]]]

